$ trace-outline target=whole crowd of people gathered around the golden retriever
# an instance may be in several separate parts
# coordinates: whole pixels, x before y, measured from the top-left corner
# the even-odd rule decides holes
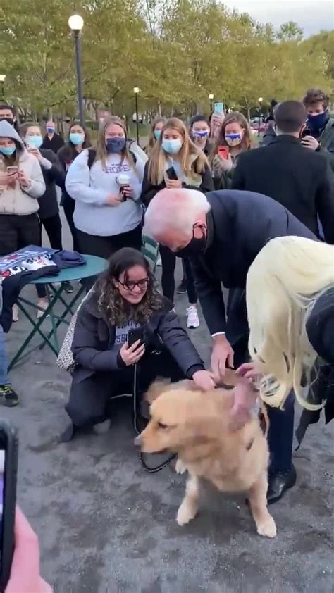
[[[188,377],[205,391],[234,367],[249,379],[234,413],[249,409],[254,393],[268,404],[267,497],[278,501],[296,482],[295,397],[304,407],[300,439],[322,407],[327,421],[334,416],[328,96],[310,89],[303,101],[276,104],[260,147],[238,112],[196,115],[189,126],[156,118],[145,151],[113,116],[101,121],[96,146],[78,123],[66,143],[53,121],[46,128],[44,137],[35,123],[18,130],[13,109],[0,105],[0,256],[40,245],[42,227],[62,249],[58,185],[73,249],[109,259],[97,282],[87,283],[78,311],[70,423],[61,440],[104,423],[109,399],[132,392],[134,373],[139,394],[157,376]],[[143,233],[159,244],[161,291],[140,252]],[[184,278],[175,289],[177,257]],[[175,313],[175,292],[187,292],[187,330],[199,326],[199,301],[211,335],[210,370]],[[42,310],[42,288],[37,298]],[[4,346],[0,330],[0,394],[13,406],[18,396]]]

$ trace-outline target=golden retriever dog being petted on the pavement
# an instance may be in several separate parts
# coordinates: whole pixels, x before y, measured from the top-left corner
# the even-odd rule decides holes
[[[151,418],[135,439],[145,453],[178,454],[176,471],[187,470],[185,498],[177,522],[185,525],[199,508],[199,479],[222,492],[246,492],[259,535],[276,536],[268,512],[268,444],[255,414],[236,426],[231,414],[234,389],[242,379],[230,371],[228,384],[200,391],[190,380],[156,381],[147,392]]]

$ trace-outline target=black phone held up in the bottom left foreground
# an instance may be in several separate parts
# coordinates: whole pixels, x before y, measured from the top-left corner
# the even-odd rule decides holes
[[[6,589],[11,576],[15,545],[16,475],[18,470],[18,436],[16,428],[0,420],[0,591]]]

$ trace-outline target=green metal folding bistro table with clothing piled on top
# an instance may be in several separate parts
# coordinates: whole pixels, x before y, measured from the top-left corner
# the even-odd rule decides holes
[[[40,344],[39,346],[39,350],[42,350],[44,346],[47,344],[49,348],[54,352],[54,354],[58,356],[60,350],[58,342],[58,327],[59,325],[61,325],[61,323],[64,323],[65,325],[70,324],[70,320],[67,320],[67,317],[68,315],[74,315],[75,304],[78,303],[80,297],[82,297],[82,294],[85,292],[85,287],[83,285],[80,285],[80,289],[78,290],[78,292],[74,294],[73,298],[70,300],[69,303],[66,303],[65,299],[63,299],[62,296],[63,285],[60,284],[58,286],[58,283],[74,282],[75,280],[83,280],[85,278],[90,278],[92,276],[98,276],[99,274],[101,274],[101,272],[104,272],[106,266],[108,265],[106,259],[103,259],[101,257],[84,255],[84,258],[86,263],[82,266],[66,268],[64,270],[61,270],[56,276],[48,276],[44,278],[42,277],[38,278],[37,280],[32,280],[32,282],[30,282],[30,284],[32,285],[39,284],[45,285],[45,287],[47,287],[49,293],[49,306],[47,307],[47,309],[44,310],[32,301],[28,301],[23,297],[18,297],[18,308],[20,308],[20,311],[22,311],[25,317],[30,321],[32,325],[32,330],[23,342],[22,346],[16,352],[15,356],[13,356],[11,363],[8,366],[8,370],[11,370],[11,368],[13,368],[13,366],[15,366],[16,363],[18,363],[20,358],[23,357],[23,354],[24,356],[26,356],[27,354],[30,354],[32,350],[35,350],[35,348],[32,348],[29,352],[26,352],[27,347],[32,341],[32,338],[37,333],[43,339],[42,344]],[[63,305],[63,311],[61,311],[60,314],[55,313],[55,306],[58,303],[61,303]],[[35,311],[43,311],[43,316],[39,319],[33,318],[30,315],[29,311],[27,311],[27,306],[34,308]],[[41,326],[47,318],[51,321],[51,329],[49,329],[48,332],[44,333]]]

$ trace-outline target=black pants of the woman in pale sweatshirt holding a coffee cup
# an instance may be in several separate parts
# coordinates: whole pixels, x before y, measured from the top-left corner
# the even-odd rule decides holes
[[[120,235],[111,237],[99,237],[98,235],[89,235],[87,232],[77,230],[80,244],[80,253],[90,256],[99,256],[109,259],[111,254],[122,249],[122,247],[133,247],[140,251],[142,247],[142,225],[128,232],[121,232]],[[85,289],[88,291],[94,285],[96,278],[91,277],[85,280]]]

